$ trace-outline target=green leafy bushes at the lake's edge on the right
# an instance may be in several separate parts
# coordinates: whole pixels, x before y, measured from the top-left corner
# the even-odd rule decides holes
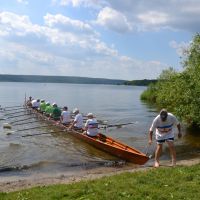
[[[141,99],[166,108],[189,127],[200,128],[200,34],[197,33],[182,58],[183,71],[164,70]]]

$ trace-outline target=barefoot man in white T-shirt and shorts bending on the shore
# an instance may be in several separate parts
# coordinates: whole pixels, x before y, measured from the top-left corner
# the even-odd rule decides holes
[[[149,130],[149,145],[152,144],[152,135],[156,130],[156,143],[157,148],[155,152],[154,167],[159,167],[159,158],[162,153],[162,146],[164,142],[167,142],[172,158],[172,166],[176,165],[176,150],[174,147],[174,128],[178,128],[178,138],[182,137],[180,123],[177,118],[168,113],[166,109],[162,109],[160,114],[153,120],[151,128]]]

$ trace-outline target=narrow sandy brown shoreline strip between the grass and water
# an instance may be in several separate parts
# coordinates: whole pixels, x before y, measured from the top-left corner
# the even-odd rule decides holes
[[[200,156],[200,154],[199,154]],[[200,157],[191,159],[178,160],[176,166],[191,166],[200,164]],[[160,167],[170,167],[170,161],[161,161]],[[105,176],[112,176],[124,172],[135,172],[153,169],[152,163],[147,162],[145,166],[118,166],[118,167],[101,167],[92,170],[82,171],[76,175],[67,175],[67,173],[58,173],[55,175],[37,174],[26,178],[14,177],[8,180],[7,177],[0,179],[0,192],[13,192],[32,187],[45,187],[54,184],[70,184],[82,180],[94,180]]]

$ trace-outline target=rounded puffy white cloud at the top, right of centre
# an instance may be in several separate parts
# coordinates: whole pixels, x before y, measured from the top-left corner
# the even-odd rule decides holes
[[[109,7],[105,7],[99,12],[96,23],[119,33],[132,29],[126,16]]]

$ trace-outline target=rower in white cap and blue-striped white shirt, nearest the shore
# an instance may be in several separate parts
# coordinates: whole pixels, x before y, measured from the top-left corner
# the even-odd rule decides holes
[[[95,137],[98,134],[98,122],[92,113],[88,113],[87,117],[88,119],[84,126],[84,133],[90,137]]]

